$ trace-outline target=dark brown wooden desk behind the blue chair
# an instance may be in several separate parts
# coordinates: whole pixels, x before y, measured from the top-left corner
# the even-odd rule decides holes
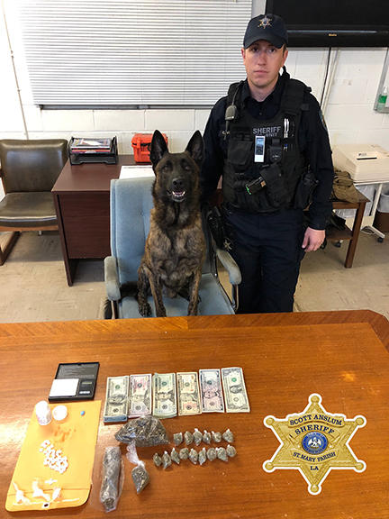
[[[65,164],[52,188],[59,236],[68,278],[73,285],[78,259],[103,259],[110,248],[110,183],[122,165],[135,164],[120,155],[117,164]]]

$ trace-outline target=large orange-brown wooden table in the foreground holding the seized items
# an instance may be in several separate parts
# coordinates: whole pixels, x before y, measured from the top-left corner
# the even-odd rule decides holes
[[[201,414],[167,419],[170,433],[224,430],[235,433],[238,456],[228,464],[189,461],[163,471],[153,466],[158,449],[142,449],[150,483],[137,496],[131,468],[118,509],[121,519],[387,519],[389,517],[389,323],[370,311],[222,315],[0,324],[0,496],[6,492],[33,406],[48,395],[59,362],[100,361],[96,398],[103,400],[107,376],[241,366],[250,414]],[[321,494],[312,496],[297,470],[267,474],[262,463],[278,446],[263,424],[267,414],[301,412],[319,393],[330,413],[366,416],[350,446],[366,471],[331,470]],[[93,487],[86,505],[46,518],[106,518],[99,502],[104,447],[114,445],[117,424],[100,423]],[[86,439],[87,442],[87,439]],[[16,517],[3,509],[2,517]]]

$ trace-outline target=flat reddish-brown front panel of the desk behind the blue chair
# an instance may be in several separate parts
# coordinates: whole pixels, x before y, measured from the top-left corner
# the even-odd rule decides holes
[[[110,255],[110,198],[108,193],[59,195],[68,258]]]

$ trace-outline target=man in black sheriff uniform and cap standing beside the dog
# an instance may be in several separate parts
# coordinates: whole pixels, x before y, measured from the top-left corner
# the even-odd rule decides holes
[[[310,88],[286,72],[286,45],[279,16],[250,20],[241,50],[247,78],[213,106],[204,132],[203,198],[222,177],[242,314],[293,311],[300,262],[321,246],[331,213],[329,136]]]

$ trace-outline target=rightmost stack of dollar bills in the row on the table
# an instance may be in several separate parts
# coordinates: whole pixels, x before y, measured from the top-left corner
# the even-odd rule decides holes
[[[222,387],[227,413],[249,413],[249,398],[241,368],[222,368]]]

